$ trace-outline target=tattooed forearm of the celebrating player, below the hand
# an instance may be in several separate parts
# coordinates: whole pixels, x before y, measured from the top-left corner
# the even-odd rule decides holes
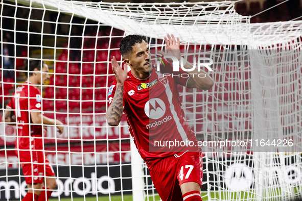
[[[123,115],[123,91],[124,86],[117,86],[112,103],[107,110],[106,118],[111,126],[119,125],[121,121]]]

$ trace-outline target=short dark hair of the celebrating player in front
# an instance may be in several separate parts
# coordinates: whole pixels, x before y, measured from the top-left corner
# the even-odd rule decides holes
[[[135,45],[135,43],[141,43],[143,41],[149,43],[149,41],[146,39],[146,36],[134,35],[134,34],[125,36],[120,44],[121,55],[125,57],[127,54],[132,52],[132,47]]]

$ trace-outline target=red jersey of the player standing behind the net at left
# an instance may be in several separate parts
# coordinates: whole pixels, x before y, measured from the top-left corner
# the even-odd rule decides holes
[[[41,112],[41,91],[30,82],[26,82],[16,89],[6,108],[14,110],[17,120],[18,132],[15,147],[29,149],[30,135],[42,135],[42,126],[33,125],[30,118],[30,111]],[[35,148],[38,148],[37,144]]]

